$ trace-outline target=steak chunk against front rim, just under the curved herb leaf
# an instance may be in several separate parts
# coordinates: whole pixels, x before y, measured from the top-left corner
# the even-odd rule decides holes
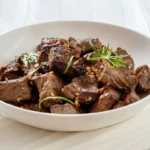
[[[66,103],[63,105],[53,105],[50,107],[51,113],[55,114],[79,114],[80,111],[75,108],[73,105]]]

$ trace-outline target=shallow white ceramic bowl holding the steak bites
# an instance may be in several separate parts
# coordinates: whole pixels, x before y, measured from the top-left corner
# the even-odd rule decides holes
[[[114,48],[126,49],[134,58],[136,67],[150,65],[150,39],[137,32],[118,26],[95,22],[50,22],[23,27],[0,36],[0,65],[14,56],[34,51],[42,37],[77,38],[98,37]],[[9,93],[8,93],[9,94]],[[57,131],[84,131],[103,128],[133,117],[149,104],[150,97],[119,108],[100,113],[63,115],[40,113],[14,107],[0,101],[0,112],[9,118],[38,128]]]

